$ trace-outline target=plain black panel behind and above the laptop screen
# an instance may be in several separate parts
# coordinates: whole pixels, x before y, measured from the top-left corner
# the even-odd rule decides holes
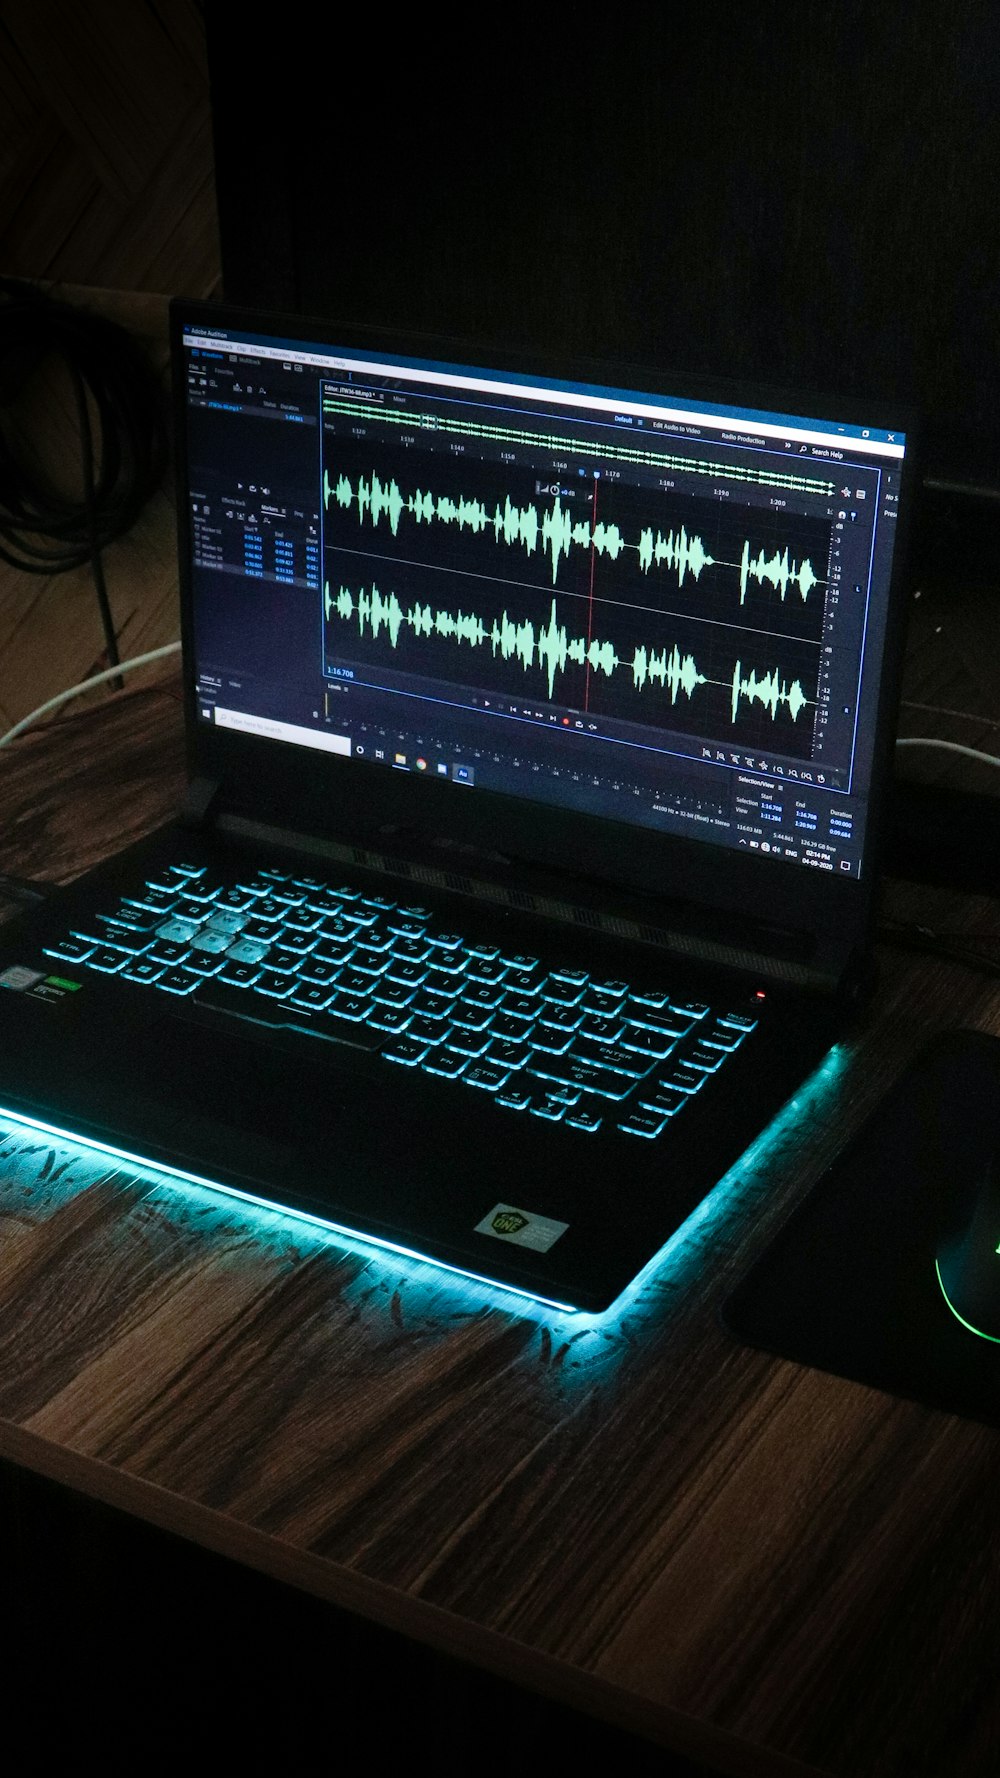
[[[226,12],[231,299],[890,393],[1000,489],[995,0]]]

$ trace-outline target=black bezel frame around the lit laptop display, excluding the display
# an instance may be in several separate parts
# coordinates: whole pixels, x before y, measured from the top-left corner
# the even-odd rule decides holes
[[[836,877],[819,869],[792,866],[758,853],[719,846],[687,836],[660,834],[605,816],[587,816],[552,804],[536,805],[516,797],[450,782],[397,773],[356,757],[340,757],[317,749],[299,749],[254,734],[233,733],[198,717],[192,660],[192,574],[190,517],[187,500],[187,427],[185,382],[174,375],[176,398],[176,493],[180,544],[181,635],[185,642],[185,715],[189,733],[189,770],[192,777],[219,784],[217,807],[274,821],[283,829],[320,837],[345,837],[354,843],[432,848],[447,836],[452,850],[464,848],[482,861],[518,861],[520,868],[593,878],[623,900],[641,898],[649,919],[664,917],[676,903],[705,905],[714,914],[731,914],[751,926],[786,928],[811,933],[817,955],[847,958],[865,941],[872,894],[877,880],[879,811],[891,757],[891,711],[899,695],[902,656],[902,574],[906,562],[906,517],[915,485],[913,416],[877,398],[867,404],[831,398],[813,391],[795,395],[770,386],[738,386],[690,377],[664,368],[596,364],[539,352],[468,340],[438,340],[427,334],[399,334],[322,318],[256,313],[226,304],[176,300],[171,306],[174,366],[183,352],[189,325],[240,329],[274,334],[283,341],[301,341],[386,354],[463,363],[484,370],[520,372],[598,388],[648,391],[690,402],[756,407],[779,414],[836,414],[845,425],[868,425],[906,432],[897,541],[891,585],[888,589],[884,667],[875,718],[865,866],[859,877]]]

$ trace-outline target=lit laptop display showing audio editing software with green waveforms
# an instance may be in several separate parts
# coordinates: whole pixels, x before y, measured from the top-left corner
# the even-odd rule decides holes
[[[861,875],[902,432],[258,325],[181,334],[201,724]]]

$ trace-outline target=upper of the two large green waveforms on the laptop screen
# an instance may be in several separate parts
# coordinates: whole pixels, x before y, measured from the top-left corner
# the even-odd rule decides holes
[[[450,494],[431,494],[422,489],[404,494],[395,480],[383,482],[375,473],[370,480],[358,477],[356,484],[347,475],[331,482],[329,475],[324,473],[324,505],[329,507],[331,500],[343,510],[356,505],[359,525],[370,523],[377,528],[383,519],[388,521],[393,537],[399,533],[400,519],[409,516],[416,525],[456,525],[459,530],[473,532],[473,535],[493,532],[496,544],[520,546],[527,555],[536,555],[541,546],[552,557],[553,587],[559,562],[562,557],[569,557],[573,548],[594,549],[596,555],[609,557],[612,562],[632,549],[637,553],[644,574],[651,567],[665,564],[676,574],[678,587],[683,587],[687,574],[698,581],[706,567],[738,567],[740,605],[746,605],[751,580],[756,580],[758,585],[767,580],[783,601],[788,587],[797,587],[802,603],[811,589],[820,585],[811,562],[794,562],[788,549],[776,549],[772,557],[760,549],[751,557],[751,544],[744,542],[740,562],[721,562],[708,555],[701,537],[689,537],[685,526],[667,532],[665,537],[653,526],[646,526],[639,532],[639,542],[632,544],[617,525],[603,521],[591,525],[589,519],[575,519],[559,496],[543,512],[536,505],[514,505],[509,494],[504,496],[504,505],[496,501],[489,509],[482,500],[466,496],[456,500]]]

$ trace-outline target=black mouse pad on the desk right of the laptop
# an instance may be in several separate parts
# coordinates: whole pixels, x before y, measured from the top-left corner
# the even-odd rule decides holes
[[[936,1253],[1000,1150],[1000,1038],[950,1031],[900,1076],[722,1305],[751,1346],[1000,1426],[1000,1344]],[[1000,1291],[1000,1257],[996,1259]]]

